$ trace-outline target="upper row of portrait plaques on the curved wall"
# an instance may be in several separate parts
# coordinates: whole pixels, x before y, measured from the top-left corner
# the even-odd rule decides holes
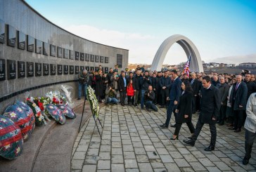
[[[39,53],[43,55],[50,55],[58,58],[65,58],[71,60],[81,60],[87,62],[101,62],[108,63],[108,57],[93,55],[89,53],[79,53],[78,51],[68,50],[67,48],[61,48],[53,44],[48,44],[39,39],[34,39],[30,35],[26,35],[23,32],[16,30],[11,25],[5,25],[4,21],[0,19],[0,43],[5,43],[5,35],[7,33],[7,45],[27,51]],[[27,43],[27,44],[26,44]]]

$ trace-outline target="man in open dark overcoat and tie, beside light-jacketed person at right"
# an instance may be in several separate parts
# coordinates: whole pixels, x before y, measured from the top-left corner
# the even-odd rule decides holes
[[[243,111],[246,107],[248,88],[242,81],[242,76],[236,76],[236,84],[233,85],[230,99],[233,108],[233,127],[229,128],[235,132],[240,132],[243,126]]]

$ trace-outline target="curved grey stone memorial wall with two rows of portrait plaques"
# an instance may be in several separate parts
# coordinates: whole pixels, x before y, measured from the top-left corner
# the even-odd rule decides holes
[[[0,0],[0,113],[26,91],[41,96],[60,84],[72,86],[76,98],[79,70],[124,69],[128,53],[65,31],[25,1]]]

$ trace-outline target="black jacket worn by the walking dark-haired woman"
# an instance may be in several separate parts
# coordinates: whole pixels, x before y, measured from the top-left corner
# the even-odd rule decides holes
[[[177,117],[175,121],[177,123],[184,123],[191,121],[192,117],[192,99],[193,99],[193,93],[187,92],[179,98],[179,104],[177,107],[177,110],[179,110],[179,113],[177,114]],[[188,118],[184,118],[184,115],[187,114]]]

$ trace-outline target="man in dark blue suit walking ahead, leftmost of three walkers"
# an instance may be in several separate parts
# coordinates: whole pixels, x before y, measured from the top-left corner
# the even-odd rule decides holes
[[[165,124],[160,125],[162,128],[168,128],[169,121],[172,117],[172,112],[176,109],[178,103],[179,103],[179,97],[181,96],[181,79],[178,77],[178,73],[176,70],[172,71],[172,79],[174,81],[172,82],[170,91],[169,91],[169,97],[167,100],[169,100],[169,106],[167,109],[167,117]]]

